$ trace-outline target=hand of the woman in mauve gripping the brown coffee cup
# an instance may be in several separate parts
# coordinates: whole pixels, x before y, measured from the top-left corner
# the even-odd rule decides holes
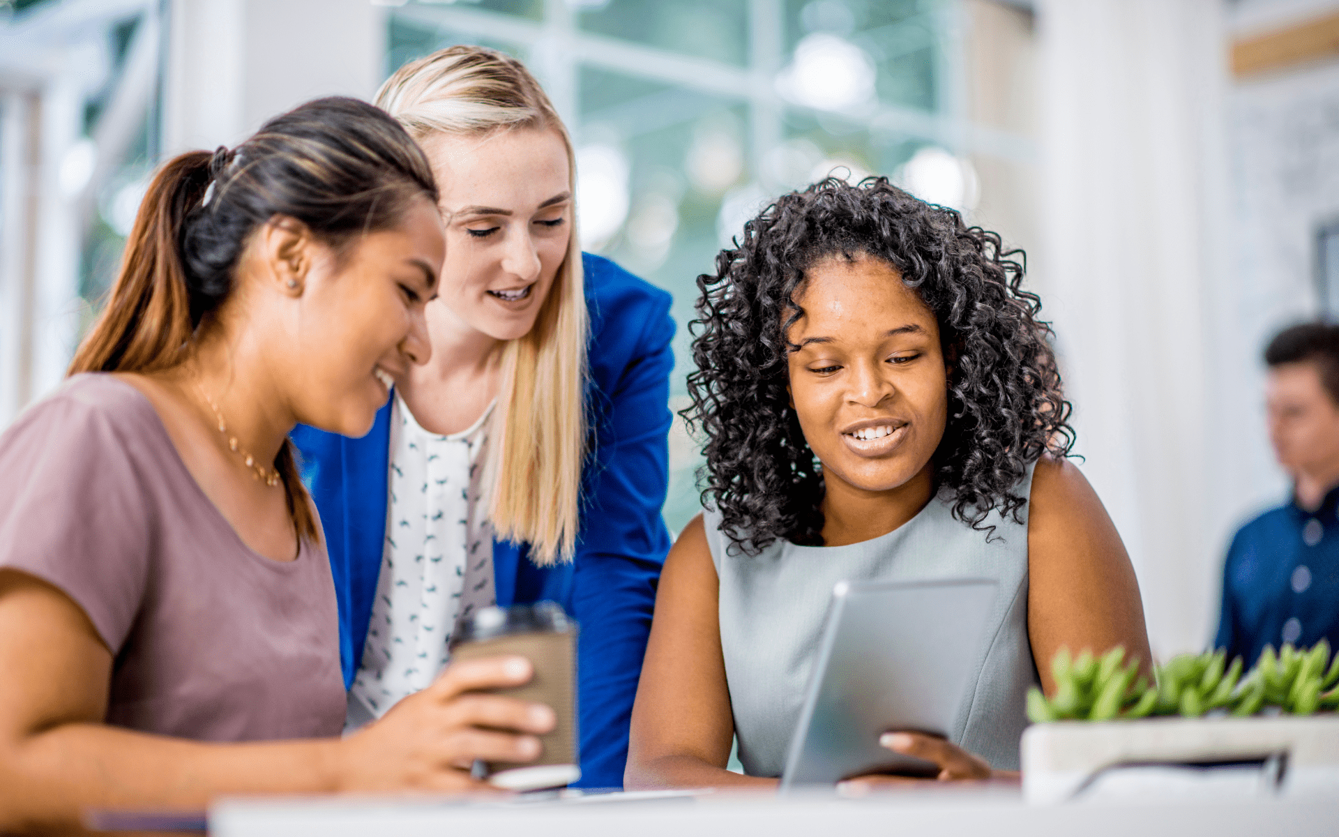
[[[336,790],[495,791],[470,775],[474,761],[533,762],[556,718],[542,703],[489,692],[533,676],[530,660],[514,654],[453,659],[432,686],[335,742]]]

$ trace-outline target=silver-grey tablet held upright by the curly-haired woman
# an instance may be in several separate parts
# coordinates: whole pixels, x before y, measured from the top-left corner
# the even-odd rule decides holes
[[[980,659],[995,581],[840,581],[781,789],[939,767],[878,746],[889,730],[948,738]]]

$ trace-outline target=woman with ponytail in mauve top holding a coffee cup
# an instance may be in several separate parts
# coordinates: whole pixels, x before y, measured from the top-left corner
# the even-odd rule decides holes
[[[404,130],[353,99],[158,171],[70,379],[0,435],[0,832],[470,789],[473,759],[538,754],[546,707],[461,696],[526,680],[520,658],[337,738],[335,591],[287,434],[367,433],[428,360],[437,200]]]

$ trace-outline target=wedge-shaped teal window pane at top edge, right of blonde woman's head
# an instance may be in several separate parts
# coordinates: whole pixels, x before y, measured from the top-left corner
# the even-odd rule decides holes
[[[747,0],[611,0],[578,20],[596,35],[740,67],[749,60]]]

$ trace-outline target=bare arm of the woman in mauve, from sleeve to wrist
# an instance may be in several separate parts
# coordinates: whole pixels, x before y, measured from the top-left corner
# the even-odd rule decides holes
[[[102,723],[112,655],[55,587],[0,570],[0,833],[88,808],[204,809],[221,791],[337,789],[335,741],[216,745]]]

